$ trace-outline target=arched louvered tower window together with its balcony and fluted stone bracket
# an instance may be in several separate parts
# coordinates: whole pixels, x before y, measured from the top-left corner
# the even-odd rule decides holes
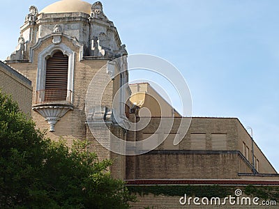
[[[75,52],[61,42],[53,42],[38,54],[36,97],[32,109],[50,124],[51,132],[54,132],[56,122],[73,109],[74,67]]]

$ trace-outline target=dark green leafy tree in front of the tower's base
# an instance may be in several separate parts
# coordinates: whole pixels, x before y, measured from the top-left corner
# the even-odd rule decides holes
[[[130,208],[122,180],[86,150],[88,141],[45,138],[0,92],[0,208]]]

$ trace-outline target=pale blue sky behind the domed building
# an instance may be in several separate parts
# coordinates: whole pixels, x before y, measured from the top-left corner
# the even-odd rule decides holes
[[[29,6],[42,10],[53,2],[1,1],[1,60],[15,50]],[[279,171],[279,1],[102,3],[129,54],[160,56],[181,71],[193,116],[239,118]]]

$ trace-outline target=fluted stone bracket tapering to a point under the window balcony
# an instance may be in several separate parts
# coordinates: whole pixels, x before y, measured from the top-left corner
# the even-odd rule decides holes
[[[54,132],[54,125],[60,120],[69,110],[73,110],[73,107],[69,106],[41,106],[33,107],[34,111],[37,111],[41,116],[45,118],[45,121],[50,124],[50,132]]]

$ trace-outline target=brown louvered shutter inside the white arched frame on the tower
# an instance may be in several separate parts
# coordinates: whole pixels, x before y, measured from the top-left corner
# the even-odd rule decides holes
[[[45,99],[55,102],[67,98],[68,56],[61,51],[47,59],[45,73]]]

